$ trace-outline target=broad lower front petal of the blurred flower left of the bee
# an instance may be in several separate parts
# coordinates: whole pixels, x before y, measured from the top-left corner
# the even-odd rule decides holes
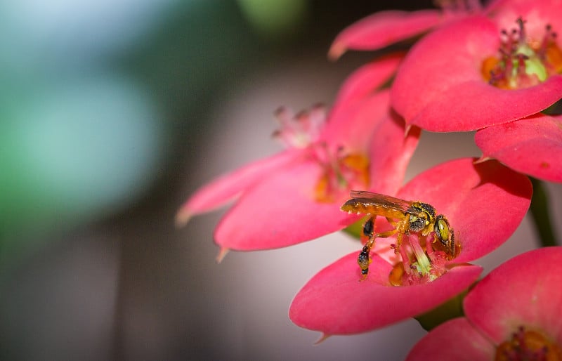
[[[261,180],[223,217],[215,241],[235,250],[285,247],[350,224],[338,204],[316,202],[313,197],[320,166],[308,161],[294,164]]]

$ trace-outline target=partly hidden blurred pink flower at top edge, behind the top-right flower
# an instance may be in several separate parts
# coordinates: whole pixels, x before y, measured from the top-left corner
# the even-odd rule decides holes
[[[483,11],[478,0],[438,1],[442,10],[380,11],[346,27],[329,49],[330,58],[352,50],[377,50],[415,37],[438,26]]]

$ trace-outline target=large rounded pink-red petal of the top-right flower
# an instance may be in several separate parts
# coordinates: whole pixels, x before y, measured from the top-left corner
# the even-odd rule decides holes
[[[540,112],[562,94],[562,76],[530,88],[503,90],[481,75],[499,48],[492,20],[473,16],[421,39],[406,56],[392,86],[392,105],[407,124],[429,131],[471,131]]]

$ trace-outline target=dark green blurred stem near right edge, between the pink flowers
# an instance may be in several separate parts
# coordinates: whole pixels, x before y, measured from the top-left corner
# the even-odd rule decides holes
[[[532,183],[532,199],[530,214],[535,221],[541,247],[556,246],[556,235],[550,221],[549,197],[541,180],[530,178]]]

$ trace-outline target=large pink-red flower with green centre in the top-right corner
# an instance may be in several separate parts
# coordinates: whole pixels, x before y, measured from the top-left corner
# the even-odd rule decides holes
[[[540,112],[562,97],[562,6],[498,1],[412,47],[392,86],[407,124],[471,131]]]

